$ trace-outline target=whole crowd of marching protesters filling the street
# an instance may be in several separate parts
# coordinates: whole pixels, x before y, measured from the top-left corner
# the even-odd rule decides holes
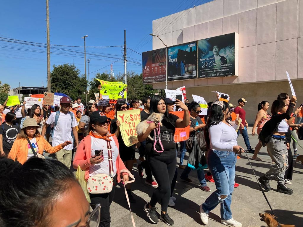
[[[62,206],[60,208],[64,209],[64,204],[60,203],[72,204],[69,200],[78,200],[77,207],[80,211],[75,215],[78,215],[79,220],[72,222],[70,216],[74,214],[67,215],[66,226],[78,226],[80,223],[84,223],[83,226],[110,226],[110,205],[115,195],[116,184],[123,183],[126,188],[125,199],[132,204],[137,203],[131,190],[132,184],[128,183],[134,178],[132,175],[134,165],[140,178],[143,178],[145,169],[145,183],[155,187],[150,201],[135,206],[142,206],[152,223],[158,223],[159,218],[167,225],[174,225],[174,220],[168,215],[168,206],[175,206],[176,201],[173,190],[178,178],[176,169],[178,144],[180,145],[178,167],[183,171],[180,179],[191,183],[188,174],[195,169],[201,190],[211,192],[207,181],[215,183],[216,186],[216,190],[211,192],[200,206],[201,221],[205,225],[208,224],[209,212],[220,204],[221,223],[235,227],[242,226],[231,213],[231,194],[234,188],[239,186],[235,183],[235,163],[240,158],[238,155],[244,151],[244,148],[238,145],[237,138],[239,134],[243,136],[247,151],[254,153],[252,160],[262,161],[257,155],[263,145],[259,141],[255,150],[251,148],[247,132],[248,123],[245,119],[244,107],[247,103],[245,98],[240,98],[236,107],[231,103],[220,101],[217,96],[217,100],[208,103],[207,116],[199,115],[201,106],[197,102],[189,103],[187,99],[184,102],[171,100],[160,95],[144,97],[141,103],[138,99],[132,99],[129,104],[118,101],[108,103],[106,106],[98,105],[95,100],[89,100],[85,107],[81,101],[80,97],[75,101],[69,97],[62,97],[60,108],[46,105],[40,107],[34,104],[27,110],[26,102],[13,107],[6,106],[6,102],[0,105],[2,156],[0,174],[5,175],[0,180],[0,196],[5,198],[0,202],[1,226],[18,226],[25,219],[27,225],[22,226],[51,226],[45,224],[48,217],[40,215],[46,212],[46,208],[38,206],[38,198],[44,198],[41,203],[44,206],[55,201],[53,214],[49,209],[47,210],[48,215],[54,217],[56,210],[59,209],[56,208],[57,203],[58,207]],[[171,113],[178,108],[183,110],[182,118]],[[271,111],[268,111],[270,108]],[[135,109],[141,111],[141,121],[154,113],[163,114],[163,119],[160,126],[157,122],[151,122],[145,133],[138,135],[137,144],[126,146],[120,133],[121,123],[116,112]],[[271,190],[269,185],[271,179],[278,179],[277,192],[293,193],[286,185],[291,184],[293,158],[298,156],[296,132],[302,125],[301,112],[301,107],[296,108],[296,97],[289,97],[285,93],[279,94],[271,107],[266,100],[258,104],[252,136],[255,136],[256,132],[259,135],[267,121],[270,121],[273,127],[269,142],[266,144],[273,166],[259,178],[265,191]],[[189,162],[184,165],[186,151],[190,153],[193,148],[185,146],[186,141],[176,143],[172,139],[176,128],[187,126],[191,137],[196,137],[198,134],[203,137],[201,142],[203,144],[199,142],[199,146],[202,155],[206,156],[206,168],[201,163],[199,166],[193,166]],[[155,133],[156,128],[159,128],[158,134]],[[52,137],[52,145],[49,143],[50,137]],[[291,151],[291,138],[294,153]],[[100,149],[102,155],[95,155],[95,150]],[[135,158],[136,151],[139,152],[138,160]],[[54,154],[53,159],[57,161],[36,158],[43,158],[45,152]],[[108,193],[89,193],[90,205],[93,209],[91,215],[87,212],[89,211],[87,198],[85,199],[75,177],[68,170],[75,171],[78,167],[85,171],[85,180],[96,174],[109,173],[113,182],[112,190]],[[40,168],[41,172],[37,171],[37,168]],[[209,171],[205,174],[204,169]],[[8,182],[8,179],[14,180]],[[32,185],[27,185],[28,181],[31,181]],[[67,196],[65,201],[59,201],[54,190],[52,194],[46,196],[48,186],[58,190],[58,196],[67,193],[66,195],[72,198]],[[67,187],[72,189],[67,192]],[[37,201],[35,194],[38,196]],[[10,207],[12,204],[8,199],[10,196],[15,199],[15,203],[22,203],[24,207]],[[27,202],[24,203],[23,200]],[[30,203],[30,200],[36,202]],[[161,204],[160,215],[156,211],[157,203]],[[40,216],[31,215],[31,212],[39,212]]]

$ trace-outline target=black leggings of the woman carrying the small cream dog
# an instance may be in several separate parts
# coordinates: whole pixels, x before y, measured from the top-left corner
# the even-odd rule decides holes
[[[157,202],[160,202],[161,211],[166,212],[171,195],[171,182],[176,171],[176,152],[150,156],[148,157],[148,162],[159,185],[158,188],[154,190],[149,203],[152,207],[155,207]]]

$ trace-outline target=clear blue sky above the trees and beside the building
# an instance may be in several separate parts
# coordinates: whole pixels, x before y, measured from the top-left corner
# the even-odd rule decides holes
[[[123,46],[126,29],[127,48],[142,53],[152,49],[152,21],[175,12],[201,5],[211,0],[175,1],[105,1],[49,0],[50,44],[83,46],[86,38],[86,58],[90,78],[97,72],[124,72],[123,49],[88,48],[88,46]],[[0,81],[12,88],[47,86],[46,48],[35,44],[7,42],[17,39],[46,43],[46,1],[2,1],[0,14]],[[3,39],[5,38],[5,39]],[[142,56],[127,50],[128,71],[142,72]],[[121,58],[121,59],[120,59]],[[120,60],[119,60],[120,59]],[[52,65],[75,64],[84,74],[84,48],[51,48]],[[88,67],[87,67],[88,74]]]

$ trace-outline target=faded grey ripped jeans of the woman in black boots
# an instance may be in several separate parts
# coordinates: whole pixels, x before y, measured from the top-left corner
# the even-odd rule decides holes
[[[267,148],[276,164],[265,173],[265,176],[268,179],[276,179],[278,184],[284,184],[284,175],[288,168],[288,151],[285,142],[271,137],[267,143]]]

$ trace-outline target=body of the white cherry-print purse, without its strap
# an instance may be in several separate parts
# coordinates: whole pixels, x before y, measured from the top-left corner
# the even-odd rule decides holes
[[[106,174],[96,174],[87,180],[87,190],[90,194],[102,194],[112,191],[113,179]]]

